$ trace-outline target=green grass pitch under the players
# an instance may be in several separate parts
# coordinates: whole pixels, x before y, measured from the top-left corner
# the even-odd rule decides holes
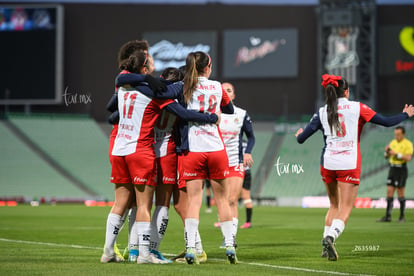
[[[407,222],[377,223],[384,209],[354,209],[338,239],[337,262],[320,257],[325,209],[255,207],[253,227],[239,229],[237,265],[225,262],[217,215],[200,214],[208,261],[201,265],[99,262],[109,207],[0,207],[0,275],[414,275],[414,211]],[[240,208],[240,224],[245,212]],[[127,229],[118,239],[126,245]],[[174,209],[160,250],[184,249]]]

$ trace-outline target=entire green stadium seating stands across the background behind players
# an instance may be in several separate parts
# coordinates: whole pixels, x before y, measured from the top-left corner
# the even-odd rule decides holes
[[[319,174],[321,133],[300,145],[293,128],[275,131],[269,124],[257,125],[252,196],[325,196]],[[411,132],[407,131],[407,138],[412,140]],[[0,121],[0,139],[7,141],[0,146],[0,198],[113,199],[108,134],[93,119],[79,115],[12,114],[9,120]],[[383,149],[391,139],[392,129],[366,126],[361,137],[359,197],[385,196],[388,163]],[[406,197],[414,198],[414,161],[408,164]]]

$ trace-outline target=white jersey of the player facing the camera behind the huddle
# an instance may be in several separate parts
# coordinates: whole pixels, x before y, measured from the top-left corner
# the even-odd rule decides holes
[[[240,163],[240,143],[242,143],[240,132],[246,116],[246,110],[233,106],[234,114],[221,114],[219,125],[230,167],[237,166]]]

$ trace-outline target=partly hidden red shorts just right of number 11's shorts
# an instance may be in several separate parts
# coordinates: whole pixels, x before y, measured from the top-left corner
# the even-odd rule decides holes
[[[175,151],[157,158],[157,184],[177,183],[177,154]]]

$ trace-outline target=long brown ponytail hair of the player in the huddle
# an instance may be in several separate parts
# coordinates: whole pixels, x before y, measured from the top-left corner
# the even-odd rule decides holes
[[[211,58],[208,54],[197,51],[187,55],[185,60],[184,75],[184,101],[190,102],[193,92],[197,87],[198,75],[203,73],[207,66],[211,66]]]

